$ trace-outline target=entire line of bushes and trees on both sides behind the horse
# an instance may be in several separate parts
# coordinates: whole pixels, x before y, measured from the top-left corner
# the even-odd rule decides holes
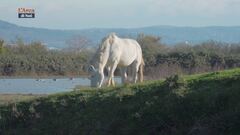
[[[240,43],[206,41],[169,46],[163,44],[160,37],[144,34],[140,34],[137,41],[146,64],[144,75],[149,79],[240,67]],[[69,49],[49,50],[41,42],[24,43],[18,39],[14,45],[9,45],[0,40],[0,75],[87,74],[85,67],[96,49],[86,48],[89,41],[85,39],[75,37],[69,43],[72,44]]]

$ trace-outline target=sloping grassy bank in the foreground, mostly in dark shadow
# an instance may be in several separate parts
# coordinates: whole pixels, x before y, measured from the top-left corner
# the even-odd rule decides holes
[[[240,69],[2,105],[0,134],[239,135]]]

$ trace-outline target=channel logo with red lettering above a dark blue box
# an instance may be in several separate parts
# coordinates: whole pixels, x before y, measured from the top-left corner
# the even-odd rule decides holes
[[[18,8],[18,18],[35,18],[35,10],[33,8]]]

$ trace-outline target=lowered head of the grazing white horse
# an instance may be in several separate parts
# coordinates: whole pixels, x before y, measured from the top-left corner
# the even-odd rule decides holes
[[[101,87],[102,85],[102,74],[94,68],[93,65],[91,65],[88,69],[89,73],[90,73],[90,81],[91,81],[91,87]]]

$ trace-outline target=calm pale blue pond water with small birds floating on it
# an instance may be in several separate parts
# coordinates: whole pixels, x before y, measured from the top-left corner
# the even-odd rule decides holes
[[[119,80],[119,79],[117,79]],[[52,94],[72,91],[75,86],[89,86],[88,78],[7,78],[0,79],[0,94]]]

